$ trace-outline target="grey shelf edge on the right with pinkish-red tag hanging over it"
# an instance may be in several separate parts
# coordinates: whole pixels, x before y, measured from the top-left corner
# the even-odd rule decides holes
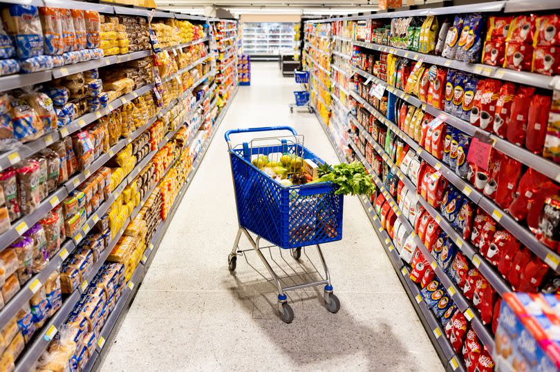
[[[490,139],[492,139],[492,141],[494,141],[493,147],[496,148],[496,150],[500,150],[502,153],[505,153],[513,159],[521,161],[521,163],[534,168],[534,170],[543,173],[543,175],[546,175],[556,180],[557,182],[560,182],[560,164],[556,164],[548,159],[540,157],[539,155],[535,155],[525,148],[516,146],[510,141],[506,141],[505,139],[497,137],[496,135],[486,132],[485,130],[481,130],[476,126],[467,123],[467,121],[461,120],[458,117],[454,117],[447,112],[438,110],[433,106],[426,105],[422,101],[420,101],[420,99],[412,97],[402,90],[393,88],[393,86],[387,85],[386,81],[382,81],[381,79],[378,79],[374,75],[371,75],[360,68],[354,66],[351,66],[351,68],[363,77],[366,77],[368,79],[371,78],[371,80],[376,84],[383,84],[387,87],[386,89],[389,90],[389,92],[393,93],[397,97],[404,99],[404,101],[409,102],[409,104],[413,104],[416,107],[424,108],[424,110],[429,114],[435,117],[440,117],[447,124],[450,124],[451,126],[458,128],[459,130],[462,130],[468,135],[474,135],[476,132],[482,133],[483,135],[489,137]]]

